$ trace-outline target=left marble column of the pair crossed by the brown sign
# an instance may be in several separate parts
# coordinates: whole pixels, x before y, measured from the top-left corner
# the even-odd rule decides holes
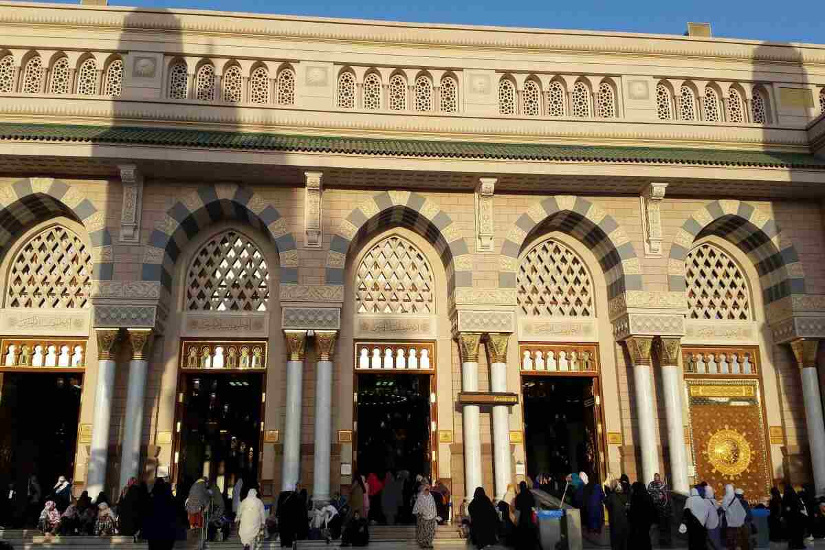
[[[459,334],[461,352],[461,390],[479,391],[479,342],[481,333]],[[464,496],[469,502],[476,487],[482,487],[481,477],[481,411],[478,405],[464,405]]]

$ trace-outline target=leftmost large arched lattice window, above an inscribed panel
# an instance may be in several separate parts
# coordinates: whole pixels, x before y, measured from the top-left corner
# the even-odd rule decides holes
[[[77,234],[54,225],[17,252],[8,276],[7,308],[89,308],[92,254]]]

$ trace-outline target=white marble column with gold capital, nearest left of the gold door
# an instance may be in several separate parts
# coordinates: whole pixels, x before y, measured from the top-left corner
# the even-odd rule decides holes
[[[690,493],[687,481],[687,451],[681,407],[681,376],[679,375],[679,338],[662,338],[662,389],[667,417],[667,448],[670,449],[671,488],[686,495]]]

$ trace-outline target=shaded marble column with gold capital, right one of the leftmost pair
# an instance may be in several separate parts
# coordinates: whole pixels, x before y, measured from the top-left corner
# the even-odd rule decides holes
[[[127,328],[132,345],[129,362],[129,387],[126,391],[126,414],[123,425],[122,451],[120,452],[120,486],[126,487],[130,477],[139,477],[140,440],[144,430],[144,396],[146,395],[146,371],[151,348],[152,329]]]

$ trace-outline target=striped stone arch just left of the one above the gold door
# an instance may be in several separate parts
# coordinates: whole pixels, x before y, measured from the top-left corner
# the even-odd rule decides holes
[[[512,224],[499,256],[499,288],[516,289],[522,248],[543,229],[563,231],[587,244],[605,273],[608,300],[643,289],[642,266],[625,229],[596,204],[573,195],[533,204]]]

